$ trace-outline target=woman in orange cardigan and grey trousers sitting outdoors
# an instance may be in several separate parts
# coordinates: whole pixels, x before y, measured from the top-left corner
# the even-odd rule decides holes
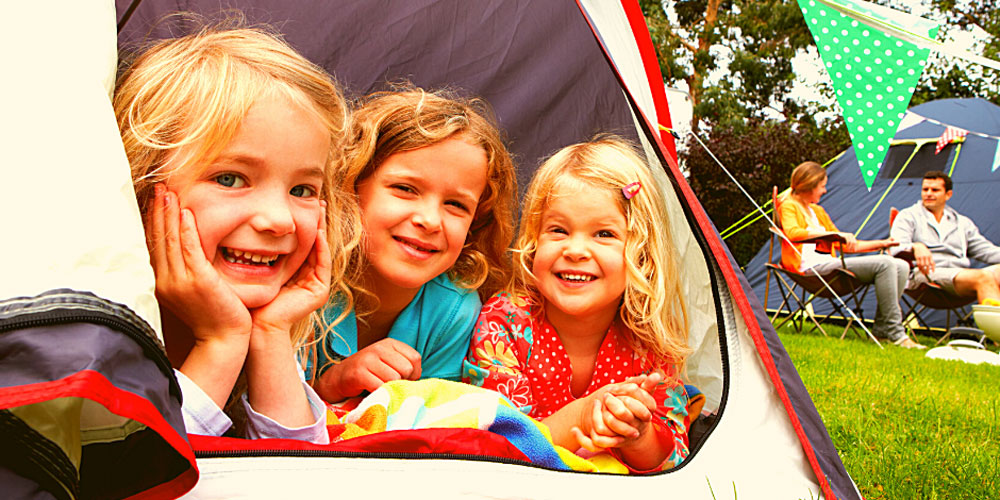
[[[851,233],[842,233],[833,225],[830,216],[817,205],[826,193],[826,170],[818,163],[807,161],[792,171],[792,192],[778,208],[781,227],[793,243],[782,240],[781,265],[785,269],[805,273],[815,271],[826,274],[843,265],[859,281],[875,284],[878,310],[875,313],[874,333],[888,338],[892,343],[908,349],[925,346],[911,340],[903,329],[899,298],[906,288],[909,265],[888,255],[865,255],[843,260],[834,257],[838,248],[845,253],[871,252],[897,243],[892,239],[858,240]],[[843,243],[795,243],[830,233],[837,233]],[[819,248],[817,248],[817,246]]]

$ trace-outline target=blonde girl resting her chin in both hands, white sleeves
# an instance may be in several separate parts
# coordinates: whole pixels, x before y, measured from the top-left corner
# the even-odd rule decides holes
[[[143,52],[114,107],[188,432],[327,442],[296,352],[353,234],[337,86],[263,29],[205,28]]]

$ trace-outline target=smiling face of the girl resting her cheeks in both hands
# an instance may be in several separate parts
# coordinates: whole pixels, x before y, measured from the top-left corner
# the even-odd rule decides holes
[[[273,300],[312,250],[329,148],[312,113],[275,95],[250,108],[210,165],[167,180],[194,214],[205,257],[247,308]]]

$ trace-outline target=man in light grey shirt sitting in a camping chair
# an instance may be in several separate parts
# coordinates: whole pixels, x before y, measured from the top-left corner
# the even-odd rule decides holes
[[[899,212],[892,225],[889,234],[899,246],[890,252],[912,251],[916,267],[908,288],[929,280],[956,295],[975,296],[980,303],[1000,301],[1000,247],[979,234],[971,219],[946,206],[951,187],[944,172],[924,174],[920,202]],[[970,258],[992,265],[972,269]]]

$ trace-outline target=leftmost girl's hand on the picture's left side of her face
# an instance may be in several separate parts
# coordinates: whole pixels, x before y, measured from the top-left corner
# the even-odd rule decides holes
[[[162,185],[155,193],[148,235],[156,298],[191,328],[196,343],[246,344],[250,313],[205,257],[194,214]]]

